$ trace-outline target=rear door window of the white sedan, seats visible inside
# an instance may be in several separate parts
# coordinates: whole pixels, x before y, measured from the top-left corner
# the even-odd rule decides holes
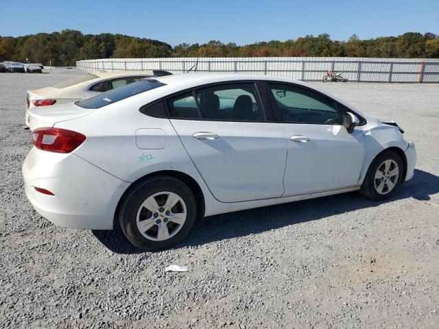
[[[264,121],[254,84],[230,84],[196,90],[202,119]]]

